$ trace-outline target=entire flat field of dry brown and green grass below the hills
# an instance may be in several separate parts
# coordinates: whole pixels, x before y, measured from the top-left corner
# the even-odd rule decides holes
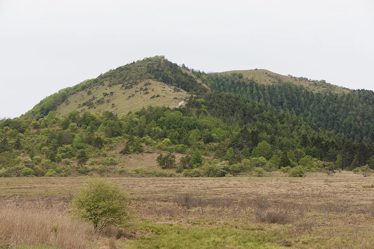
[[[0,178],[0,248],[374,248],[374,188],[362,187],[374,180],[352,172],[108,178],[128,191],[135,214],[117,239],[69,218],[87,179]]]

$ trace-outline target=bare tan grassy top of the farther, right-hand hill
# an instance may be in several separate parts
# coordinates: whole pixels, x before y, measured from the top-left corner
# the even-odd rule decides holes
[[[347,93],[350,91],[349,88],[339,87],[326,83],[324,80],[309,80],[304,77],[293,77],[292,75],[286,76],[276,74],[266,69],[251,69],[251,70],[233,70],[221,72],[219,74],[229,75],[233,72],[243,74],[243,77],[253,78],[259,84],[277,84],[279,82],[291,82],[296,85],[301,85],[305,89],[318,92],[318,93]]]

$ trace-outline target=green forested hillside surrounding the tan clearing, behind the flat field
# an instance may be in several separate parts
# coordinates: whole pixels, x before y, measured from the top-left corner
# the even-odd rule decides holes
[[[61,115],[74,94],[96,96],[105,87],[110,95],[118,86],[143,97],[144,82],[165,83],[190,97],[180,108],[152,104],[128,113],[97,112],[96,98]],[[296,169],[294,176],[301,176],[373,168],[373,100],[368,90],[321,93],[290,82],[260,84],[238,72],[206,74],[150,57],[52,94],[20,118],[1,120],[0,176],[221,177]],[[145,153],[154,160],[126,166]]]

